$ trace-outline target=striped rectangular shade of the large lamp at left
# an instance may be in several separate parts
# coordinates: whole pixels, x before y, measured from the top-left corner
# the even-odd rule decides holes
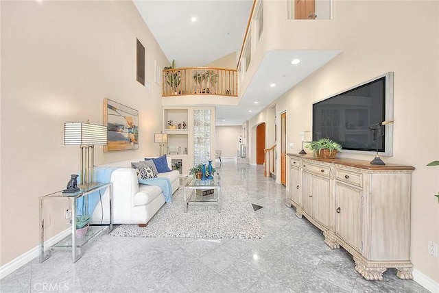
[[[64,123],[64,145],[106,144],[106,126],[90,123]]]

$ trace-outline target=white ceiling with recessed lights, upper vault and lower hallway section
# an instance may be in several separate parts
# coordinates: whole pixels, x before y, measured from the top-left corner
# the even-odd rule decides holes
[[[176,60],[176,67],[204,66],[233,52],[237,52],[238,58],[253,3],[252,0],[133,2],[168,60]],[[192,17],[197,18],[195,23]],[[242,125],[340,52],[282,50],[265,54],[239,105],[216,105],[215,125]],[[293,65],[291,62],[296,58],[301,62]]]

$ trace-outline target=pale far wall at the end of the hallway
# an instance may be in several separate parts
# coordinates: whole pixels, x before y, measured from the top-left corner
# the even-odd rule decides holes
[[[241,126],[217,126],[215,127],[215,149],[222,150],[221,157],[236,157],[239,151],[239,136]]]

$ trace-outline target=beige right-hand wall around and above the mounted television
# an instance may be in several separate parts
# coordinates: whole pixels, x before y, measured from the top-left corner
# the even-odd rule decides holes
[[[439,168],[425,166],[439,160],[438,1],[334,1],[334,20],[316,21],[307,30],[302,29],[307,21],[270,21],[270,15],[283,13],[284,3],[264,3],[268,25],[264,24],[259,55],[258,50],[272,48],[344,50],[276,101],[276,112],[286,109],[289,117],[287,142],[295,144],[289,152],[300,151],[299,133],[312,127],[314,101],[394,72],[394,155],[383,160],[416,167],[412,175],[411,260],[415,270],[438,283],[439,259],[428,255],[427,242],[439,243],[439,204],[433,196],[439,190]],[[292,31],[290,38],[285,38],[285,31]],[[250,76],[252,70],[250,65]],[[250,129],[263,120],[261,115],[250,120]]]

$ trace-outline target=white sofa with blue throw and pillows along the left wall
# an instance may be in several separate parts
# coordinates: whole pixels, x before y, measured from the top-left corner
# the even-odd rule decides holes
[[[113,224],[140,224],[145,225],[156,214],[158,209],[165,203],[165,195],[158,186],[139,184],[136,170],[131,168],[132,162],[141,162],[144,158],[132,159],[101,166],[117,166],[111,174],[112,183],[112,214]],[[167,163],[171,168],[171,158],[167,157]],[[171,181],[172,194],[180,186],[180,173],[177,170],[166,173],[158,173],[157,177],[167,177]],[[110,222],[109,190],[102,196],[102,206],[97,204],[91,222],[93,224]]]

